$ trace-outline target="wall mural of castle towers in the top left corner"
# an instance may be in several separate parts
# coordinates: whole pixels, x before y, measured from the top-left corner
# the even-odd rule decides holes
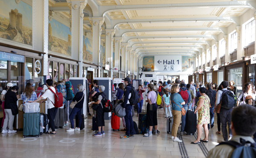
[[[15,0],[1,0],[0,37],[32,45],[32,6],[22,1],[17,4]]]

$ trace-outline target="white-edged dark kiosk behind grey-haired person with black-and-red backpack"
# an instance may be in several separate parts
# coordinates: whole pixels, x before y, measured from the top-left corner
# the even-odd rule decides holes
[[[113,81],[111,78],[108,77],[96,77],[94,78],[99,81],[99,85],[103,85],[105,87],[104,93],[108,100],[113,102]],[[111,113],[105,113],[104,115],[105,120],[111,119]]]

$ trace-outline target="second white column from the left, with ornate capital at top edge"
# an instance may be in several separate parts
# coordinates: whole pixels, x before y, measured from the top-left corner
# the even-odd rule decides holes
[[[83,76],[83,10],[87,0],[67,0],[71,11],[71,57],[79,60],[79,77]]]

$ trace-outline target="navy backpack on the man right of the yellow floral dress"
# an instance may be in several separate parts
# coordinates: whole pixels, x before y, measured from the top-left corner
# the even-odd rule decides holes
[[[234,94],[230,90],[221,90],[221,107],[231,109],[234,107],[236,100]]]

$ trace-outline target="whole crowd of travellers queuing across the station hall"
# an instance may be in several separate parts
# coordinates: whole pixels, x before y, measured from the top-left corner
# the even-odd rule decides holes
[[[172,136],[171,139],[175,142],[182,142],[177,137],[178,128],[180,126],[180,135],[185,134],[184,128],[186,125],[187,111],[193,111],[197,115],[197,139],[191,144],[200,144],[201,142],[208,142],[209,129],[214,127],[214,114],[217,113],[217,126],[218,131],[216,134],[223,135],[222,142],[230,140],[238,141],[239,138],[244,138],[251,143],[255,143],[252,138],[249,138],[256,131],[256,109],[255,97],[256,91],[252,83],[246,83],[243,90],[236,96],[236,87],[234,81],[223,81],[219,86],[215,83],[206,82],[203,84],[201,81],[194,84],[186,84],[184,80],[175,79],[175,82],[168,80],[167,82],[156,82],[152,80],[148,83],[146,80],[143,85],[139,85],[137,93],[139,99],[136,104],[137,117],[142,112],[143,100],[146,102],[146,124],[148,132],[144,136],[152,136],[159,134],[157,130],[157,109],[163,108],[165,118],[173,118]],[[55,128],[63,128],[67,126],[70,120],[70,128],[67,132],[80,130],[81,126],[81,109],[83,107],[84,97],[89,98],[90,104],[87,104],[87,115],[91,116],[89,105],[97,105],[94,115],[98,125],[98,132],[94,136],[105,135],[105,120],[104,110],[102,104],[106,98],[104,93],[105,86],[99,85],[98,80],[93,80],[90,85],[89,96],[84,96],[84,88],[82,85],[77,85],[77,93],[73,96],[73,85],[71,82],[59,81],[53,83],[51,79],[47,79],[47,90],[43,90],[42,85],[38,85],[35,90],[33,84],[26,83],[24,92],[21,95],[16,95],[19,87],[8,83],[6,88],[1,94],[2,108],[4,110],[4,119],[1,124],[2,133],[16,133],[13,130],[14,115],[12,113],[12,106],[17,106],[17,100],[22,99],[23,103],[26,102],[44,102],[47,101],[47,114],[49,118],[49,127],[51,131],[49,134],[56,134]],[[113,104],[123,102],[122,107],[125,109],[125,116],[122,118],[125,134],[120,136],[122,139],[134,137],[134,121],[133,121],[133,104],[132,101],[133,85],[131,79],[126,77],[123,83],[113,85]],[[63,106],[57,108],[54,106],[55,93],[63,94]],[[70,96],[71,95],[71,96]],[[144,97],[145,99],[144,99]],[[157,102],[157,97],[160,96],[161,101]],[[78,102],[71,114],[69,115],[69,102]],[[80,102],[81,101],[81,102]],[[247,104],[247,105],[244,105]],[[159,106],[159,107],[158,107]],[[242,115],[242,114],[244,115]],[[78,124],[74,128],[73,118],[78,115]],[[240,119],[240,117],[244,117]],[[246,120],[250,120],[244,122]],[[181,122],[181,124],[180,124]],[[228,126],[228,128],[227,128]],[[249,126],[249,127],[248,127]],[[204,128],[204,139],[201,139],[202,127]],[[188,133],[189,134],[189,133]],[[226,147],[227,150],[232,150]],[[217,146],[209,153],[222,154],[221,147]],[[210,157],[210,156],[209,156]]]

